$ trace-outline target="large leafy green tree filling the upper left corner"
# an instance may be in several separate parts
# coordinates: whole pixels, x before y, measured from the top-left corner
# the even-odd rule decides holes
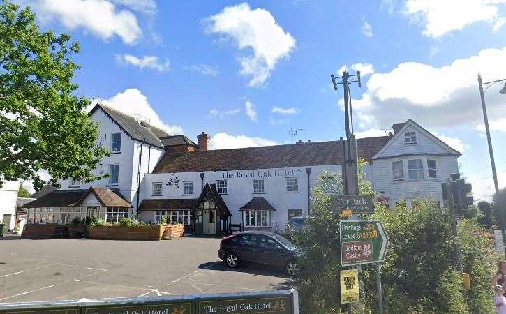
[[[30,8],[0,0],[0,186],[34,180],[36,189],[59,178],[99,179],[94,170],[107,152],[96,147],[98,127],[75,96],[71,80],[79,52],[68,34],[42,32]],[[40,177],[45,170],[50,180]]]

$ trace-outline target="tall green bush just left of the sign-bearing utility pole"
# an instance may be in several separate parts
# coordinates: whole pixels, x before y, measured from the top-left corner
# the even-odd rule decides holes
[[[371,185],[364,179],[359,163],[360,193],[371,194]],[[302,249],[299,255],[299,290],[302,313],[325,314],[341,308],[339,296],[339,220],[342,217],[331,210],[331,194],[342,193],[341,176],[334,172],[322,172],[311,191],[312,215],[308,218],[302,233],[290,234],[294,243]]]

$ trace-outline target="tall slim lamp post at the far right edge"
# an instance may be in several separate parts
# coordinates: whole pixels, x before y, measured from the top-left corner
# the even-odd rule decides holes
[[[496,200],[497,200],[496,206],[498,208],[498,211],[500,212],[500,218],[502,220],[501,232],[503,234],[503,249],[505,251],[505,256],[506,256],[506,246],[505,246],[505,243],[506,243],[506,231],[505,231],[506,223],[505,222],[506,222],[506,220],[505,220],[505,214],[504,214],[504,210],[503,210],[503,200],[501,200],[502,197],[500,195],[499,184],[497,182],[496,162],[493,159],[492,141],[490,139],[490,129],[489,129],[489,118],[486,116],[485,96],[483,93],[484,89],[488,89],[493,84],[500,83],[500,82],[506,82],[506,79],[495,80],[495,81],[491,81],[491,82],[482,82],[482,77],[478,73],[479,96],[481,96],[481,98],[482,98],[482,109],[483,109],[483,119],[485,121],[486,141],[489,143],[489,154],[490,154],[490,163],[492,166],[493,185],[496,188],[496,197],[497,197],[496,198]],[[501,89],[499,91],[499,93],[506,94],[506,83],[504,84],[503,89]]]

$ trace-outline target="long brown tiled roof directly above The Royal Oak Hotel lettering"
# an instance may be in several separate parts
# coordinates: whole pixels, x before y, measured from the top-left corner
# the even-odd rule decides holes
[[[389,136],[380,136],[358,139],[359,158],[370,161],[390,138]],[[181,153],[166,152],[153,172],[227,171],[340,165],[341,154],[341,144],[338,141]]]

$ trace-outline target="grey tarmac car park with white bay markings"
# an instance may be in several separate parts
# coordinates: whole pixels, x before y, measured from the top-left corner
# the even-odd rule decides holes
[[[288,288],[281,270],[228,269],[220,239],[0,238],[0,303],[248,292]]]

